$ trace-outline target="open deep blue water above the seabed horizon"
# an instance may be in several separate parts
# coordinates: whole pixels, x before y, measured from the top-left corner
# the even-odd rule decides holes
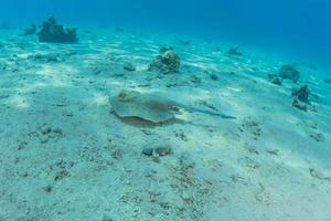
[[[53,14],[79,25],[231,40],[329,66],[330,11],[328,0],[3,0],[0,24],[25,25]]]

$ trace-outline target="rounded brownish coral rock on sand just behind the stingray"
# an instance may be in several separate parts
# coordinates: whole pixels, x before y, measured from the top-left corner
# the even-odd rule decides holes
[[[168,50],[161,55],[158,55],[148,67],[148,71],[159,71],[164,74],[177,73],[181,66],[181,61],[179,55],[172,51]]]

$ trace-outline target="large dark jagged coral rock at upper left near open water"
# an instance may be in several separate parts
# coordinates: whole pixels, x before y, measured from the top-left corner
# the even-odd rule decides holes
[[[41,30],[36,33],[40,42],[49,43],[76,43],[77,29],[65,28],[62,24],[57,24],[55,19],[51,17],[47,21],[44,21]]]

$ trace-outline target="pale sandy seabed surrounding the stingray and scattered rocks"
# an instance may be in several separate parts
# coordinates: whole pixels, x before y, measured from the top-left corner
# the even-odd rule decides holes
[[[298,85],[267,77],[286,61],[265,53],[138,32],[82,31],[78,44],[19,33],[0,31],[1,221],[331,220],[331,85],[319,71],[299,65],[313,93],[302,112]],[[180,73],[148,72],[168,45]],[[236,119],[122,120],[108,102],[121,90]],[[173,152],[142,154],[160,146]]]

